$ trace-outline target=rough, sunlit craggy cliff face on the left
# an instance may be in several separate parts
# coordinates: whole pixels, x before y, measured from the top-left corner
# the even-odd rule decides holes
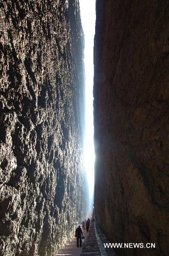
[[[79,2],[0,9],[0,255],[51,256],[86,210]]]

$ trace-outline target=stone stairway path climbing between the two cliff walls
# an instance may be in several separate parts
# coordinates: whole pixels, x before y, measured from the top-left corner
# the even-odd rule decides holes
[[[90,228],[89,232],[83,232],[85,236],[85,242],[82,244],[82,247],[77,248],[76,238],[74,238],[70,244],[67,244],[65,248],[59,250],[59,254],[55,256],[107,256],[107,253],[103,248],[98,245],[99,235],[97,233],[95,222],[94,222],[94,212],[90,218]],[[99,241],[100,243],[100,241]],[[101,243],[100,243],[101,244]]]

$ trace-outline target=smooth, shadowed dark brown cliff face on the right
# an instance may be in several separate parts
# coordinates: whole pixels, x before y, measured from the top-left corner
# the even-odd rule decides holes
[[[119,256],[169,255],[169,3],[96,1],[95,208]]]

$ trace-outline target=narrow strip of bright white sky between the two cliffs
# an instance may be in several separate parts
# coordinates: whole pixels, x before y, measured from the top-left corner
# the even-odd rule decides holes
[[[94,190],[94,143],[93,143],[93,45],[96,20],[96,1],[79,0],[82,27],[85,34],[85,148],[84,160],[88,177],[90,199]]]

